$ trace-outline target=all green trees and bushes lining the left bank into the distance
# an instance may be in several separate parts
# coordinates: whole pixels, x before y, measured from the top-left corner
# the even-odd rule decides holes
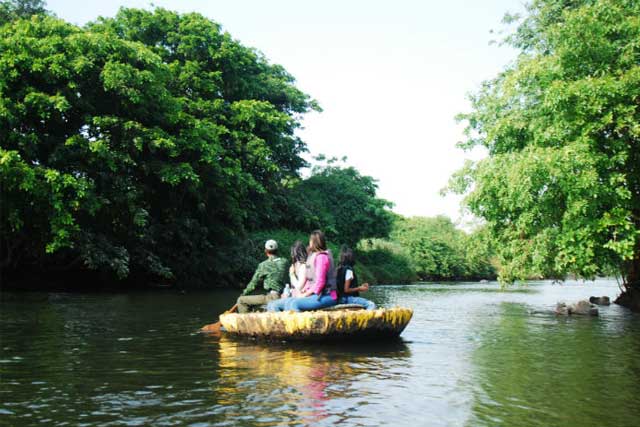
[[[358,248],[364,280],[493,274],[475,237],[397,217],[356,169],[320,158],[304,177],[296,129],[320,108],[294,83],[196,13],[80,28],[1,2],[3,277],[238,284],[265,239],[286,254],[315,228]]]

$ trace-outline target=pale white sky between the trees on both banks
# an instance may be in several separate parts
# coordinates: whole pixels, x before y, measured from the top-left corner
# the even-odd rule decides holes
[[[323,109],[299,132],[308,158],[347,156],[399,214],[469,219],[459,196],[440,194],[465,159],[485,155],[456,147],[464,123],[455,116],[515,59],[491,41],[506,12],[523,11],[521,0],[49,0],[47,8],[82,25],[152,4],[199,12],[284,66]]]

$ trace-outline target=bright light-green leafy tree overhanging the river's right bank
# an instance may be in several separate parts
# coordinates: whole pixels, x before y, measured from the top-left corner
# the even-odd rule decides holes
[[[450,188],[497,238],[504,281],[617,271],[640,293],[640,3],[534,0],[514,64],[472,96]]]

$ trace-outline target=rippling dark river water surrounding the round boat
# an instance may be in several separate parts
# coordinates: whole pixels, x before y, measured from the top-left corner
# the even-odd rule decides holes
[[[640,315],[556,317],[615,281],[373,287],[393,343],[195,332],[234,292],[3,293],[0,425],[638,426]]]

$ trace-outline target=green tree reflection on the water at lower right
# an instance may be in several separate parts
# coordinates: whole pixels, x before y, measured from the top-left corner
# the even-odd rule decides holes
[[[475,350],[472,425],[635,425],[640,337],[603,319],[531,317],[503,304]],[[621,321],[616,319],[617,321]],[[629,373],[635,375],[629,375]]]

